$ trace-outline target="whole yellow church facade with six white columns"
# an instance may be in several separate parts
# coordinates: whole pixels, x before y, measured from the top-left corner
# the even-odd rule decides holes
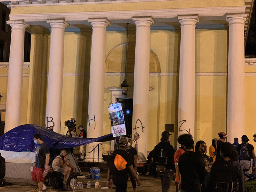
[[[182,133],[207,147],[221,131],[229,142],[244,134],[252,140],[256,60],[245,60],[244,42],[253,2],[4,0],[12,29],[10,61],[0,67],[5,132],[54,124],[65,135],[64,121],[72,117],[96,138],[111,133],[110,103],[132,99],[129,131],[140,134],[145,156],[166,128],[175,147]],[[108,150],[105,142],[99,152]]]

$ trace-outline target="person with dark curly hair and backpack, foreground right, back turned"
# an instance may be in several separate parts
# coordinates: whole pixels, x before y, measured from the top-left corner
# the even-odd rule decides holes
[[[222,159],[211,167],[207,192],[244,192],[244,172],[238,160],[238,153],[231,143],[220,146]]]

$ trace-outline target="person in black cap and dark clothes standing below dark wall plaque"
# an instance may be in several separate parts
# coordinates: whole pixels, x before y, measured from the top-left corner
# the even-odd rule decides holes
[[[170,133],[164,131],[161,136],[161,141],[155,146],[153,164],[161,178],[162,192],[168,192],[171,184],[168,174],[175,169],[175,150],[170,144]]]

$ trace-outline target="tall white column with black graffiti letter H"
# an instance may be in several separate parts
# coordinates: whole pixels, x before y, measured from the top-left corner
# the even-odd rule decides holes
[[[108,19],[89,19],[93,26],[91,43],[91,65],[89,84],[89,104],[87,138],[97,138],[103,134],[103,104],[104,104],[104,78],[105,78],[105,41],[106,27],[110,25]],[[93,150],[98,143],[90,143],[86,146],[86,152]],[[102,146],[95,148],[95,162],[102,162]],[[86,154],[86,161],[93,162],[93,152]]]

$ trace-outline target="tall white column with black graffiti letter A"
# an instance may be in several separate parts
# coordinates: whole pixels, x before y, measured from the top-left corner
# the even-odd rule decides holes
[[[140,134],[138,152],[147,158],[150,26],[154,21],[151,17],[132,20],[136,25],[132,128],[137,127],[132,129],[132,138],[134,133]]]

